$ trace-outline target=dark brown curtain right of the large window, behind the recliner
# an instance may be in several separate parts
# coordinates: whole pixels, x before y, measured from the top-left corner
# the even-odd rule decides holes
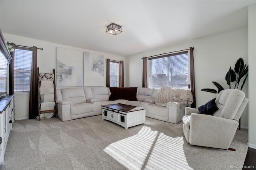
[[[193,95],[194,102],[191,104],[192,108],[196,108],[196,90],[195,90],[195,71],[194,71],[194,54],[193,47],[190,47],[190,88]]]

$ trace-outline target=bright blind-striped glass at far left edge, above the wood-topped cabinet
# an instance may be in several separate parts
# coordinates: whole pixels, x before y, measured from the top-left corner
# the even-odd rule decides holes
[[[6,57],[0,52],[0,93],[6,93],[7,85],[7,61]]]

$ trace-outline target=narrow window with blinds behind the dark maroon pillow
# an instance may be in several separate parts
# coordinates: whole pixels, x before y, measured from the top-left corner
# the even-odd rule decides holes
[[[119,87],[119,62],[110,60],[110,87]]]

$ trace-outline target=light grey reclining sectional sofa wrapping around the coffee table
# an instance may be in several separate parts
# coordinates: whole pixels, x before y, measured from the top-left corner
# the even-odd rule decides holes
[[[111,88],[111,87],[110,87]],[[184,116],[186,101],[169,102],[167,105],[156,105],[160,89],[138,88],[136,87],[136,99],[109,100],[111,91],[108,87],[74,87],[56,90],[58,116],[62,121],[101,115],[101,106],[116,103],[144,107],[146,117],[178,123]]]

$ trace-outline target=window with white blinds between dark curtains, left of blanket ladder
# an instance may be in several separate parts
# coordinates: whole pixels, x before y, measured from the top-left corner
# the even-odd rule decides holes
[[[14,53],[14,92],[30,91],[32,49],[16,47]]]

